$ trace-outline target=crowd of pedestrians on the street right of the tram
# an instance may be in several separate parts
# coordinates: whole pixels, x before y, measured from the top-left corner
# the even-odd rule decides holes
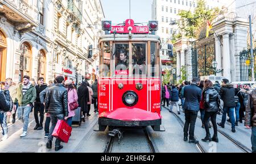
[[[180,100],[180,101],[179,101]],[[181,102],[181,104],[179,104]],[[185,114],[184,141],[199,143],[194,137],[195,124],[198,112],[202,128],[205,129],[205,137],[202,141],[214,141],[218,143],[217,126],[225,128],[226,120],[231,123],[231,131],[236,132],[238,122],[245,120],[246,128],[251,128],[252,152],[256,152],[256,89],[250,92],[249,88],[243,85],[236,85],[228,79],[222,79],[222,85],[218,81],[213,84],[210,80],[200,81],[194,77],[191,81],[183,81],[180,85],[162,85],[162,105],[170,105],[170,112],[176,106],[177,113],[182,109]],[[220,123],[217,123],[217,115],[222,115]],[[227,118],[228,115],[228,119]],[[235,117],[236,116],[236,117]],[[209,128],[213,126],[211,137]]]

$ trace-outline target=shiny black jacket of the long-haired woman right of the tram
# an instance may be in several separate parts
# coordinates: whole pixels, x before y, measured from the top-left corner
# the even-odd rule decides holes
[[[204,91],[204,109],[208,112],[218,111],[218,95],[217,90],[214,88],[208,88]]]

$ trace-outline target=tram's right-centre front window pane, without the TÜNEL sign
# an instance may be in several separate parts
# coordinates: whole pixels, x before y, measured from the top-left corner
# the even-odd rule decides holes
[[[146,44],[131,44],[133,75],[146,75]]]

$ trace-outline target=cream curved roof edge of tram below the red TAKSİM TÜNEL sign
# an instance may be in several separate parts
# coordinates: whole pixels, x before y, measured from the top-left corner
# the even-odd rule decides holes
[[[114,34],[101,36],[99,42],[114,41]],[[129,34],[115,34],[115,41],[156,41],[160,42],[160,37],[153,34],[133,34],[131,39]]]

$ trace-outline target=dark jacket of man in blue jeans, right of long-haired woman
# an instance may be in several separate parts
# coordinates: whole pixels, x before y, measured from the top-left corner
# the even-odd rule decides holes
[[[235,90],[233,84],[224,84],[220,88],[220,96],[224,102],[224,107],[235,107],[236,102],[234,99]]]

